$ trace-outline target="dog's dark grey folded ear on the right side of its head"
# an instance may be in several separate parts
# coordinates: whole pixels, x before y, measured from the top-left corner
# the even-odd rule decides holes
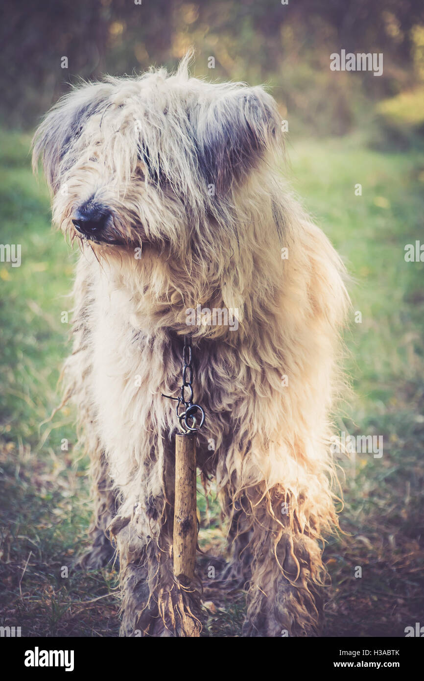
[[[218,193],[243,180],[282,141],[276,102],[261,87],[232,90],[198,114],[199,163]]]

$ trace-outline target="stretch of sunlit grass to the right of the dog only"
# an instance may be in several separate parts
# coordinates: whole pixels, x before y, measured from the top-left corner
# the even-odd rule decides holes
[[[346,343],[355,397],[340,430],[383,438],[382,458],[342,463],[348,536],[325,552],[333,582],[326,633],[402,636],[424,604],[424,263],[404,259],[405,244],[422,234],[424,162],[368,151],[357,138],[305,142],[291,160],[297,191],[353,277]]]

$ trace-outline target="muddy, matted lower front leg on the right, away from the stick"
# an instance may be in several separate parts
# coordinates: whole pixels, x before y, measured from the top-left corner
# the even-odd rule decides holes
[[[317,635],[321,627],[321,548],[301,532],[288,498],[281,488],[250,488],[233,516],[231,575],[242,575],[241,585],[250,572],[244,636]]]

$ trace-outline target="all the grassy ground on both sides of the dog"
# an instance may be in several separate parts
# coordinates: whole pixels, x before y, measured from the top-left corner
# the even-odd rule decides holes
[[[71,307],[75,256],[50,229],[29,141],[0,131],[0,242],[22,244],[20,267],[0,264],[0,624],[25,636],[112,636],[116,573],[70,570],[90,518],[74,415],[63,409],[43,424],[69,349],[62,313]],[[405,245],[421,235],[424,162],[412,152],[369,151],[355,136],[299,142],[289,157],[296,191],[353,276],[346,345],[354,397],[338,428],[383,438],[382,458],[340,460],[344,534],[325,549],[333,583],[325,635],[402,636],[424,605],[424,264],[404,260]],[[201,546],[216,552],[224,540],[216,503],[207,508],[199,496],[199,508]],[[240,635],[243,599],[209,608],[209,635]]]

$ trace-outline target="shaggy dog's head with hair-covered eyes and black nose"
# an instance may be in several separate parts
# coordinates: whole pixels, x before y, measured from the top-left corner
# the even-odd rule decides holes
[[[35,134],[54,222],[93,248],[150,244],[179,256],[216,247],[235,193],[278,144],[280,118],[261,87],[190,78],[186,60],[140,78],[74,89]]]

